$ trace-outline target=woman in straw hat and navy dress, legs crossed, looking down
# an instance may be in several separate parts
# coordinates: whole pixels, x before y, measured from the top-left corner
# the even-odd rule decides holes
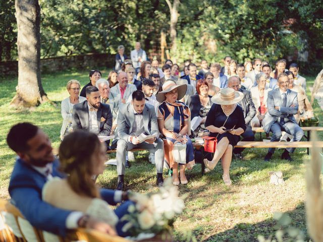
[[[224,88],[211,98],[214,103],[209,110],[205,127],[210,136],[217,137],[216,152],[211,161],[204,159],[206,172],[214,169],[221,159],[223,167],[223,181],[230,186],[230,164],[232,149],[239,142],[240,135],[246,130],[243,110],[237,103],[243,99],[243,93],[232,88]]]

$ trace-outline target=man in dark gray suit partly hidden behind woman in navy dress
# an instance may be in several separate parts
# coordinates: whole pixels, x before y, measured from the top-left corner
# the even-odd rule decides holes
[[[254,134],[251,129],[250,121],[256,115],[256,109],[252,102],[251,94],[249,91],[240,88],[240,80],[237,76],[229,78],[228,87],[243,93],[242,100],[238,102],[238,105],[243,110],[243,117],[246,125],[246,129],[241,135],[243,138],[242,141],[254,141]],[[243,150],[244,148],[234,148],[233,152],[235,154],[235,157],[238,159],[242,159],[241,152]]]

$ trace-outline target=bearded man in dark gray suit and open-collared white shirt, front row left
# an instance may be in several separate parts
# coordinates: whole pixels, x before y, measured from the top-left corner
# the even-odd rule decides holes
[[[108,104],[101,103],[97,87],[85,89],[86,101],[73,106],[73,130],[82,129],[99,136],[109,136],[112,127],[112,112]]]

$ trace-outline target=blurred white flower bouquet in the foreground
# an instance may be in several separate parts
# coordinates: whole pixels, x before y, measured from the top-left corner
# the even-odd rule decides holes
[[[175,216],[181,214],[185,207],[184,198],[179,197],[177,186],[172,179],[165,180],[158,193],[130,193],[129,199],[135,202],[128,208],[129,214],[121,220],[128,222],[122,228],[131,235],[160,234],[171,231]]]

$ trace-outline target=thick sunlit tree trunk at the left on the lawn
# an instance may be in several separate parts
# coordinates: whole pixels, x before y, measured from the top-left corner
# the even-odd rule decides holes
[[[40,79],[40,7],[38,0],[16,0],[18,86],[14,106],[33,107],[48,100]]]

